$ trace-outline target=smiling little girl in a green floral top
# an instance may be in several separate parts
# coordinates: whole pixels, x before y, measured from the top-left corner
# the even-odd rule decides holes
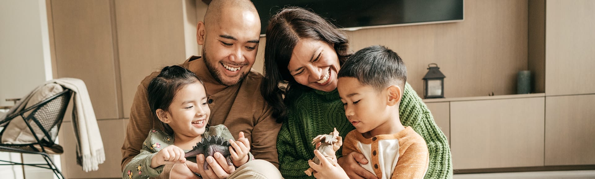
[[[184,153],[202,138],[217,135],[231,143],[233,165],[240,167],[253,159],[250,143],[244,138],[233,140],[223,124],[208,126],[211,110],[205,87],[196,75],[181,66],[166,66],[149,83],[148,101],[155,119],[164,130],[152,129],[143,142],[143,149],[127,165],[122,178],[155,177],[164,165],[186,162]],[[188,158],[196,162],[196,157]],[[202,168],[202,164],[199,165]]]

